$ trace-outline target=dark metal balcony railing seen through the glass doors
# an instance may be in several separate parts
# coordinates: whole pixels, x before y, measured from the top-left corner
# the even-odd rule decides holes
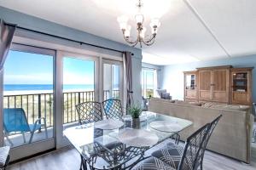
[[[115,99],[119,99],[119,90],[113,90],[112,94],[110,94],[109,90],[105,90],[103,99],[108,99],[110,95]],[[79,116],[76,112],[75,105],[94,100],[94,91],[63,93],[63,123],[78,122]],[[26,112],[27,122],[30,124],[34,123],[40,117],[46,118],[47,127],[52,127],[54,124],[53,94],[4,95],[3,107],[23,108]]]

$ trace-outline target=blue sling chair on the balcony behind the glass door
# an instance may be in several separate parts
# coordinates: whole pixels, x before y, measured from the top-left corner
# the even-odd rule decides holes
[[[22,133],[24,143],[26,143],[25,133],[31,133],[29,144],[32,143],[32,138],[37,130],[42,126],[41,121],[44,121],[45,137],[48,138],[46,120],[44,117],[38,118],[33,124],[28,124],[25,111],[22,108],[3,109],[3,130],[6,139],[11,145],[13,143],[9,139],[10,133]]]

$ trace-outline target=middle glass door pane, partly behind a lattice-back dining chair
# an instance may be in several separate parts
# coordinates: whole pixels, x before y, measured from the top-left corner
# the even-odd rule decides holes
[[[75,106],[86,101],[96,101],[96,61],[76,54],[63,57],[63,127],[78,125]]]

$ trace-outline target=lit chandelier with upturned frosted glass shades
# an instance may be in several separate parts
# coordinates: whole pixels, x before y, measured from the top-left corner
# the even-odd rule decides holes
[[[136,40],[131,40],[131,26],[128,25],[128,17],[126,16],[120,16],[118,17],[118,22],[121,31],[123,32],[123,36],[125,38],[125,42],[128,42],[131,44],[132,47],[135,47],[138,43],[140,47],[143,47],[143,44],[150,46],[154,43],[154,39],[157,34],[157,30],[160,27],[160,21],[158,18],[154,18],[151,20],[150,27],[151,27],[151,35],[145,35],[146,34],[146,27],[143,26],[144,22],[144,15],[142,14],[142,8],[143,8],[143,3],[141,0],[138,0],[137,3],[137,9],[138,13],[135,15],[135,20],[137,23],[137,39]]]

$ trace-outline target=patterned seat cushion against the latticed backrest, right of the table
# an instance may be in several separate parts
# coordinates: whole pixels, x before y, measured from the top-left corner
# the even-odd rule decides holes
[[[164,161],[169,166],[177,169],[183,155],[183,147],[177,144],[168,143],[160,150],[154,151],[151,156],[154,156],[161,161]]]

